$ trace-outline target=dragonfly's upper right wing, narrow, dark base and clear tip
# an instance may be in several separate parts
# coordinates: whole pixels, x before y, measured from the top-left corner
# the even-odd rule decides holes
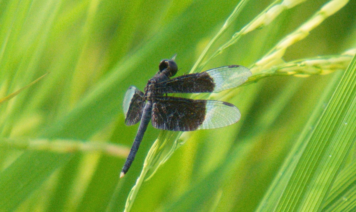
[[[234,88],[252,76],[250,69],[232,65],[187,74],[155,84],[157,93],[211,93]]]

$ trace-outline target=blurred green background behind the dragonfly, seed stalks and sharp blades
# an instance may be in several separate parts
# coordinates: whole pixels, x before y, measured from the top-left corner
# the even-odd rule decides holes
[[[282,12],[204,70],[251,67],[326,2],[306,1]],[[208,55],[270,3],[248,2]],[[189,72],[237,4],[0,1],[0,98],[50,72],[0,105],[0,210],[124,210],[160,132],[148,126],[130,171],[119,179],[138,127],[124,124],[126,89],[135,85],[142,90],[159,62],[175,53],[178,75]],[[337,55],[355,47],[355,11],[352,0],[288,48],[283,59]],[[273,76],[236,88],[238,94],[228,101],[240,109],[239,123],[189,134],[142,184],[132,211],[254,211],[321,95],[331,96],[333,90],[323,92],[342,73]],[[80,147],[83,143],[89,145]],[[102,144],[123,153],[95,149]]]

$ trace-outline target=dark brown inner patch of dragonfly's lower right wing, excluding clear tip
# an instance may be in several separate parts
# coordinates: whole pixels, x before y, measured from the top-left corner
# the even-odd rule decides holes
[[[152,107],[152,125],[162,130],[196,130],[204,122],[206,101],[155,97]]]

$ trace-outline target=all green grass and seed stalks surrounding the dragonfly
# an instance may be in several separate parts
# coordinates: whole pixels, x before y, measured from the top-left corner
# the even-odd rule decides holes
[[[354,211],[355,9],[0,1],[0,211]],[[175,53],[178,75],[251,68],[239,88],[191,96],[233,103],[241,120],[149,126],[119,179],[137,131],[124,93]]]

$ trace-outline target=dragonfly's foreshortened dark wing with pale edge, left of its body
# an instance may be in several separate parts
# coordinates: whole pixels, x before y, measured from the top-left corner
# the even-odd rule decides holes
[[[142,91],[138,90],[135,86],[127,89],[124,102],[122,103],[126,125],[130,126],[140,121],[145,104],[146,101],[144,100]]]

